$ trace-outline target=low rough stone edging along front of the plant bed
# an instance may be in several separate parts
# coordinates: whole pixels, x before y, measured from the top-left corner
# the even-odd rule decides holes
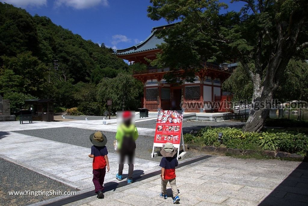
[[[251,154],[257,154],[259,151],[257,150],[240,150],[240,149],[231,149],[227,147],[215,147],[215,146],[199,146],[199,145],[193,145],[189,144],[187,145],[187,149],[195,149],[198,151],[202,151],[205,153],[214,153],[219,155],[225,155],[225,154],[232,154],[232,155],[251,155]],[[267,155],[269,157],[276,157],[276,158],[291,158],[291,159],[304,159],[302,155],[297,154],[290,154],[288,152],[282,152],[282,151],[271,151],[271,150],[261,150],[262,155]]]

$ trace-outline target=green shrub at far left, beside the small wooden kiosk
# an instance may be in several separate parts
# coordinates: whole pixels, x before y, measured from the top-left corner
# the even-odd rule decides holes
[[[25,105],[24,101],[26,99],[37,99],[37,97],[34,97],[30,94],[24,94],[24,93],[18,93],[18,92],[7,92],[4,94],[3,99],[10,100],[11,113],[16,113],[20,109],[24,109],[24,105]]]

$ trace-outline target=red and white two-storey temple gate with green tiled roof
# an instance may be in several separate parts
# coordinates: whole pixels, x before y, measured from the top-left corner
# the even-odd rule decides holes
[[[226,112],[225,108],[220,110],[206,108],[201,103],[222,102],[229,98],[222,95],[221,85],[231,75],[237,63],[210,64],[205,62],[203,68],[195,74],[195,81],[193,83],[184,81],[183,84],[169,84],[164,80],[164,74],[169,72],[170,68],[149,66],[146,59],[154,60],[156,54],[161,52],[157,45],[164,42],[163,39],[156,37],[155,32],[169,26],[154,27],[144,41],[126,49],[116,50],[116,56],[128,60],[131,64],[139,62],[148,65],[146,71],[133,74],[144,84],[141,107],[150,111],[184,109],[191,112]]]

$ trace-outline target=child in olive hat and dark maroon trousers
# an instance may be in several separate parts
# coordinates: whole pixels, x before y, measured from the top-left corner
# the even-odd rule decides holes
[[[107,171],[109,171],[108,151],[105,146],[107,138],[102,132],[95,132],[90,135],[90,142],[93,144],[91,147],[91,154],[89,157],[93,158],[93,183],[95,187],[95,193],[97,198],[103,198],[103,183]]]

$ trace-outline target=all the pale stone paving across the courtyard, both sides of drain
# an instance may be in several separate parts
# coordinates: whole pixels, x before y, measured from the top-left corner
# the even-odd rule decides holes
[[[3,122],[0,125],[0,158],[81,189],[79,192],[93,190],[92,159],[87,157],[89,148],[12,132],[59,127],[113,132],[116,129],[115,125],[102,125],[101,120],[23,125]],[[152,136],[154,129],[138,128],[138,131],[141,135]],[[108,156],[111,171],[106,174],[107,184],[117,182],[114,176],[118,167],[115,154]],[[159,169],[157,162],[137,159],[135,177]],[[307,205],[307,169],[307,163],[213,156],[176,170],[180,204]],[[160,176],[157,175],[106,192],[105,199],[97,200],[92,196],[71,205],[171,205],[171,190],[168,189],[169,198],[164,200],[158,196],[160,188]]]

